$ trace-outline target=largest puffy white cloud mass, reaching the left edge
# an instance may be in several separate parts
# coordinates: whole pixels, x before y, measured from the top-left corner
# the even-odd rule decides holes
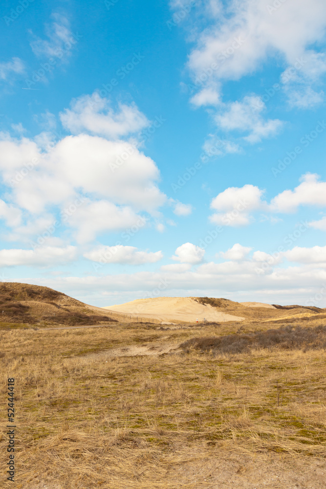
[[[78,212],[68,214],[66,222],[78,228],[80,241],[87,234],[90,240],[97,232],[134,225],[139,211],[158,216],[157,209],[167,199],[156,183],[157,166],[136,144],[88,134],[51,144],[40,137],[32,141],[1,136],[0,172],[10,187],[7,197],[26,211],[30,222],[53,206],[66,214],[65,208],[76,207],[78,200]],[[89,196],[82,208],[80,193]],[[13,209],[2,204],[3,217],[9,208]],[[8,223],[18,221],[11,214]]]

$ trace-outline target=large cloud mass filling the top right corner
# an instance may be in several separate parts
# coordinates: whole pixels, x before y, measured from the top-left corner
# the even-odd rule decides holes
[[[309,59],[307,71],[316,76],[323,72],[323,60],[309,49],[325,34],[323,0],[312,0],[309,9],[305,0],[283,2],[280,9],[270,0],[205,3],[211,7],[207,10],[210,26],[197,37],[188,64],[199,85],[205,79],[210,85],[212,80],[239,80],[258,69],[271,53],[281,54],[288,66],[298,57]]]

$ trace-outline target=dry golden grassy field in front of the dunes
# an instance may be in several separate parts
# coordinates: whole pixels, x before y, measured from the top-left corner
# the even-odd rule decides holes
[[[291,322],[299,324],[325,320]],[[324,328],[318,344],[218,349],[221,336],[237,334],[240,344],[246,333],[279,327],[258,320],[66,331],[4,324],[1,487],[325,489]],[[158,344],[172,349],[150,355]],[[126,347],[147,354],[123,356]],[[3,468],[8,377],[17,393],[14,484]]]

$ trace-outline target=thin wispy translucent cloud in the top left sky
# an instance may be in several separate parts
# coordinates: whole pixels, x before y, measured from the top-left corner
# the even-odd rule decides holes
[[[31,32],[34,39],[30,46],[33,53],[38,57],[57,57],[58,53],[63,51],[66,54],[71,54],[71,43],[75,44],[76,42],[72,38],[69,21],[59,14],[52,14],[52,18],[54,22],[51,25],[45,25],[48,40],[43,40]]]

